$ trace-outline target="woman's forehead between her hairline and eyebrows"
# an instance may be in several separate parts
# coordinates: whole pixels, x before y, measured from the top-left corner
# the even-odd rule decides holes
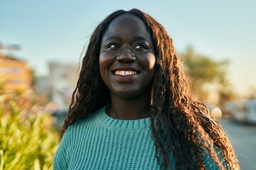
[[[124,14],[114,18],[114,20],[110,22],[109,26],[107,26],[102,40],[112,35],[142,36],[151,39],[144,21],[131,14]]]

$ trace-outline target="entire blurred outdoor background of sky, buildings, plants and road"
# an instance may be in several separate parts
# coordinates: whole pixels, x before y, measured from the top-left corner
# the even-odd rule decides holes
[[[241,168],[255,169],[253,0],[0,0],[0,169],[52,168],[90,35],[113,11],[131,8],[166,28],[193,93],[223,125]]]

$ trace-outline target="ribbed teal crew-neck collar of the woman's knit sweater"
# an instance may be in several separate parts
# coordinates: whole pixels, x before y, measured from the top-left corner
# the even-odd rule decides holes
[[[142,118],[137,120],[119,120],[110,117],[106,113],[105,106],[100,108],[100,110],[95,113],[96,115],[96,123],[101,125],[105,128],[110,129],[119,129],[119,130],[139,130],[139,129],[146,129],[150,128],[150,118]]]

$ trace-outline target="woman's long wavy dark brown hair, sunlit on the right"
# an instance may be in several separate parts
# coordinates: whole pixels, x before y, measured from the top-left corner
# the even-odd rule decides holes
[[[176,169],[205,169],[202,153],[205,151],[224,169],[214,149],[218,147],[229,169],[239,169],[238,159],[220,123],[210,118],[208,108],[191,95],[188,78],[168,33],[154,18],[138,9],[111,13],[92,33],[62,134],[69,125],[110,104],[109,90],[100,77],[100,45],[110,22],[125,13],[144,21],[154,45],[156,69],[150,118],[160,168],[171,169],[169,155],[173,152]]]

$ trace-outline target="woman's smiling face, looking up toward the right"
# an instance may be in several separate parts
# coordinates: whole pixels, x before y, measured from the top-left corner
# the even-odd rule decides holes
[[[115,18],[102,37],[99,62],[110,94],[134,98],[149,93],[156,58],[144,22],[130,14]]]

